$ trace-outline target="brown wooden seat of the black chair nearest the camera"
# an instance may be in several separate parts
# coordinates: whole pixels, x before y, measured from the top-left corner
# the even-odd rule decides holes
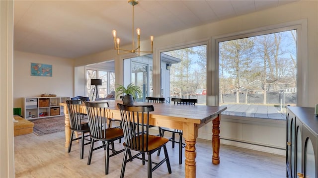
[[[140,135],[140,136],[137,136],[136,137],[136,140],[140,140],[140,142],[139,142],[139,148],[142,148],[143,147],[143,149],[132,149],[132,148],[130,148],[130,149],[132,149],[132,150],[135,150],[135,151],[141,151],[141,152],[144,152],[144,151],[142,151],[142,150],[146,150],[146,141],[144,142],[144,145],[143,145],[143,143],[142,143],[142,138],[140,138],[142,135]],[[147,137],[147,135],[146,134],[143,134],[143,136],[144,136],[144,140],[146,140],[146,137]],[[168,142],[169,140],[168,139],[166,139],[166,138],[163,138],[163,137],[160,137],[160,136],[156,136],[156,135],[149,135],[148,136],[148,151],[153,151],[153,150],[156,150],[156,149],[158,149],[158,148],[160,148],[162,145],[164,145],[164,144],[166,144],[167,142]],[[132,143],[132,142],[135,142],[135,140],[130,140],[130,142]],[[138,143],[137,143],[138,144]],[[126,143],[124,143],[123,144],[125,147],[126,147]],[[147,151],[145,151],[145,152],[147,152]]]

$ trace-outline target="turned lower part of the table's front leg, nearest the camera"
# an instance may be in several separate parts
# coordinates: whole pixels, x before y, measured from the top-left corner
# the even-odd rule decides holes
[[[196,139],[185,140],[185,177],[196,177],[196,161],[197,152],[195,148]]]

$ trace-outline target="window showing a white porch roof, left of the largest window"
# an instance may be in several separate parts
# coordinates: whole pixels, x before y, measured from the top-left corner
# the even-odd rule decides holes
[[[161,97],[194,98],[206,105],[207,45],[161,53]]]

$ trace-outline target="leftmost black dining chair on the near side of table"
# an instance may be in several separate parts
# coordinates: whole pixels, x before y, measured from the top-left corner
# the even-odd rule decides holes
[[[83,119],[80,118],[80,105],[82,104],[81,100],[66,100],[66,104],[69,111],[69,118],[70,118],[70,130],[71,137],[70,137],[70,144],[68,148],[68,153],[71,152],[72,142],[75,140],[81,139],[80,142],[80,159],[83,159],[84,155],[84,145],[90,144],[89,142],[84,143],[85,137],[89,135],[85,135],[85,133],[89,132],[89,125],[87,122],[84,122]],[[80,137],[73,138],[74,132],[80,132]]]

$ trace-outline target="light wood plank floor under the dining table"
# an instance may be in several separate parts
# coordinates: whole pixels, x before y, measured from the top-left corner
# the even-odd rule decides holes
[[[221,145],[220,165],[212,164],[211,141],[197,139],[197,178],[286,178],[285,156],[273,155],[234,146]],[[183,178],[184,162],[179,165],[178,145],[167,144],[172,174],[166,164],[153,172],[153,178]],[[122,148],[122,143],[115,143]],[[33,133],[14,137],[16,178],[119,178],[123,153],[110,158],[109,174],[104,175],[104,150],[93,152],[87,165],[89,145],[84,159],[79,159],[79,143],[73,142],[71,153],[65,148],[64,132],[37,136]],[[184,149],[183,149],[184,151]],[[163,157],[164,154],[160,154]],[[153,155],[156,160],[157,155]],[[184,159],[184,157],[183,157]],[[146,178],[147,164],[140,160],[127,163],[125,178]]]

